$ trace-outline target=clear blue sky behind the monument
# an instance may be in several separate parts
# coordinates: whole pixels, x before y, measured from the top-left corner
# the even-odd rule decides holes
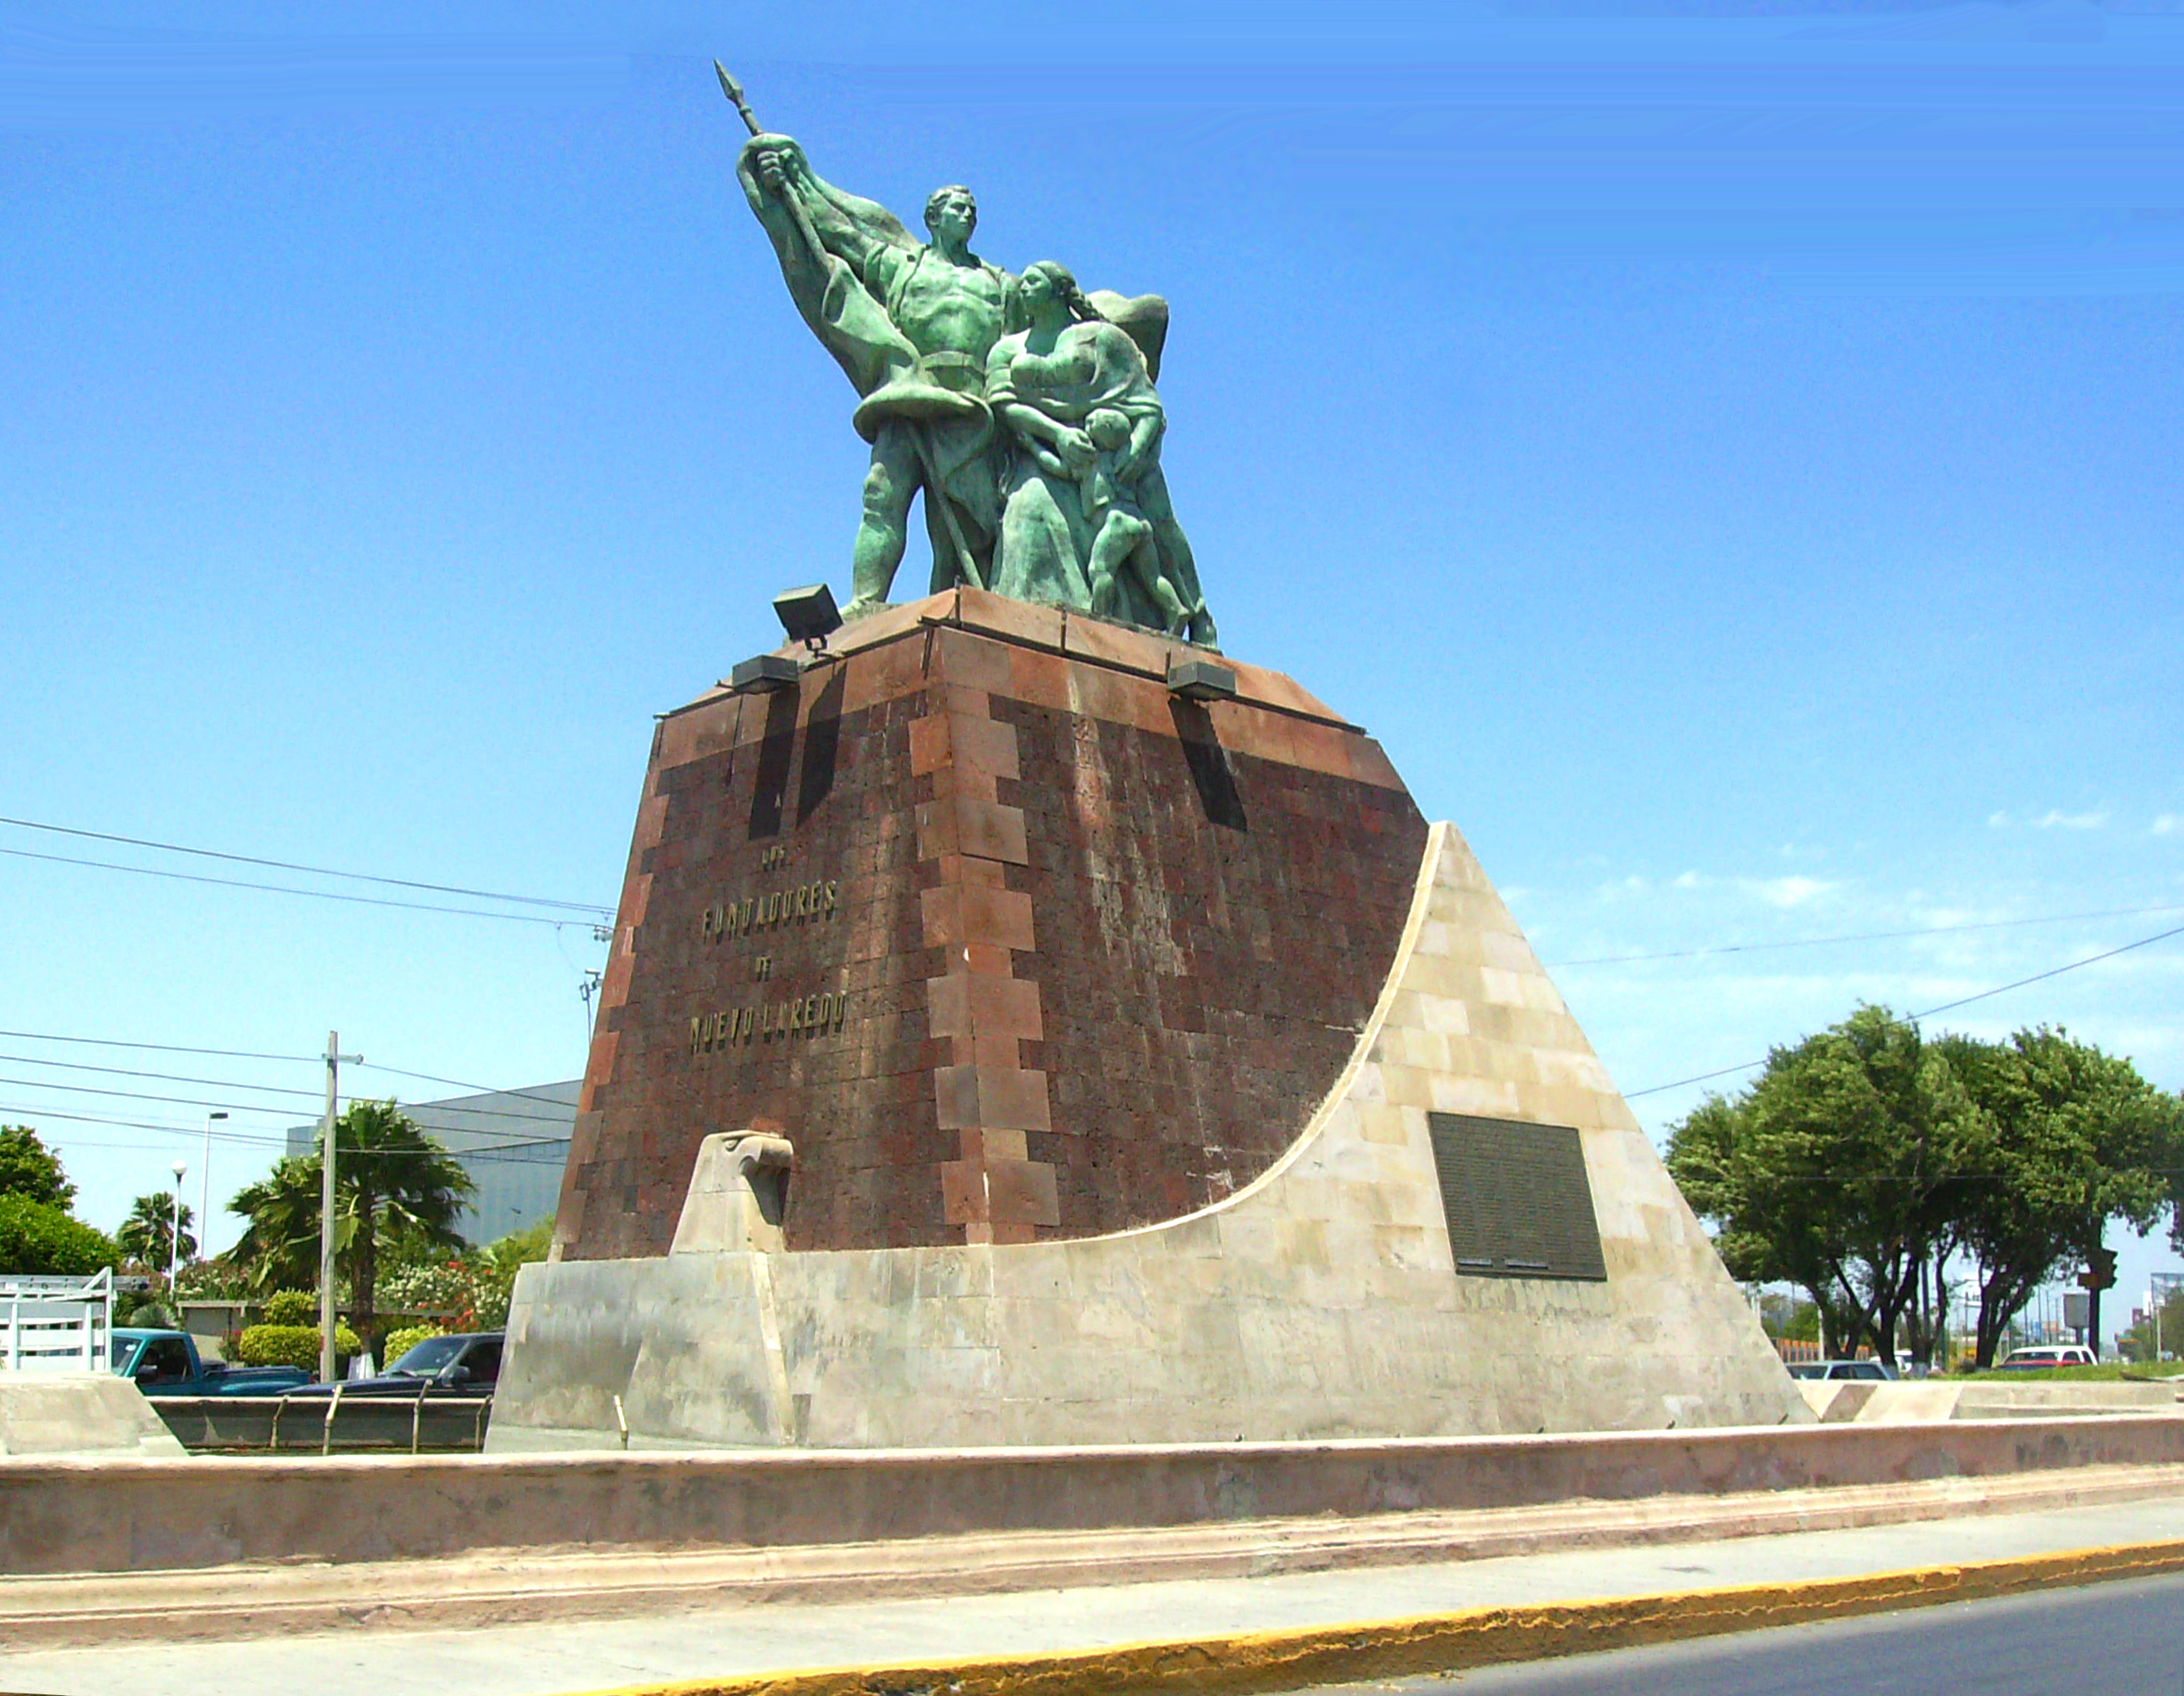
[[[162,11],[0,11],[0,814],[612,904],[651,714],[845,587],[863,469],[721,52],[845,188],[1168,295],[1227,648],[1380,736],[1625,1089],[2184,923],[2173,13]],[[15,856],[0,901],[9,1030],[480,1085],[579,1070],[601,963]],[[2033,1022],[2184,1085],[2184,939],[1939,1024]],[[0,1054],[100,1225],[177,1157],[194,1203],[194,1135],[55,1113],[271,1137],[319,1087]]]

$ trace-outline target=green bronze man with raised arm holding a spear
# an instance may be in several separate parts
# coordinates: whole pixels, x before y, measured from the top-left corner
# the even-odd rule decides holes
[[[871,443],[865,513],[843,618],[887,605],[902,565],[911,495],[926,493],[933,592],[987,587],[1000,530],[1000,463],[985,402],[985,356],[1016,277],[970,251],[968,188],[926,201],[930,242],[882,205],[821,181],[786,135],[753,135],[736,177],[782,264],[788,297],[856,384],[856,432]]]

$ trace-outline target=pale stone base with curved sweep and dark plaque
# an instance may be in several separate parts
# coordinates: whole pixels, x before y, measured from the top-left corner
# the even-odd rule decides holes
[[[1597,1253],[1588,1233],[1562,1270],[1548,1257],[1568,1244],[1538,1266],[1459,1262],[1448,1209],[1472,1203],[1450,1126],[1570,1137]],[[1431,832],[1350,1065],[1289,1152],[1219,1205],[1055,1242],[526,1266],[509,1342],[498,1454],[1815,1417],[1450,825]]]

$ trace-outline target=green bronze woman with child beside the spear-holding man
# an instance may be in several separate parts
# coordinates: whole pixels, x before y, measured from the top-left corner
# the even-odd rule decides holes
[[[1024,330],[985,362],[1009,443],[994,589],[1212,646],[1190,544],[1160,474],[1166,415],[1138,343],[1053,260],[1018,284]]]

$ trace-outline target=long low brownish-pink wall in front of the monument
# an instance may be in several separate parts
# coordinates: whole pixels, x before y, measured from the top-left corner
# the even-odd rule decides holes
[[[0,1572],[815,1548],[2184,1465],[2184,1417],[631,1456],[0,1462]]]

